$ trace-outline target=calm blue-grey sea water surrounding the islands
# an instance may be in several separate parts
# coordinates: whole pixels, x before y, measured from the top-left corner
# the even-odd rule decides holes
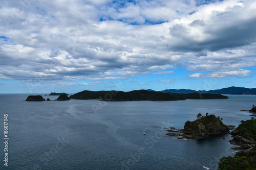
[[[256,105],[256,95],[170,102],[25,102],[28,95],[0,94],[2,141],[6,113],[9,123],[8,167],[1,142],[0,169],[217,169],[221,157],[233,155],[229,134],[178,140],[166,136],[166,128],[183,128],[206,112],[238,126],[251,117],[240,110]]]

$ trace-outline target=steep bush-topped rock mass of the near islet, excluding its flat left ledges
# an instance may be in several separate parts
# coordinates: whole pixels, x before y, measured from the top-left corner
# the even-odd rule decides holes
[[[209,135],[228,133],[229,129],[219,118],[211,114],[193,122],[187,121],[183,132],[199,138],[205,138]]]

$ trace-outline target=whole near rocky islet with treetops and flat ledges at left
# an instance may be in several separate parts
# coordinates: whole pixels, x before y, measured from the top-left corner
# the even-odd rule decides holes
[[[214,114],[208,115],[208,113],[206,113],[206,116],[202,116],[202,114],[199,113],[197,117],[198,119],[193,122],[187,121],[184,125],[184,129],[170,129],[167,131],[176,133],[167,133],[166,135],[180,136],[176,137],[178,139],[203,139],[209,135],[219,135],[229,132],[229,128],[222,123],[222,118],[216,117]]]

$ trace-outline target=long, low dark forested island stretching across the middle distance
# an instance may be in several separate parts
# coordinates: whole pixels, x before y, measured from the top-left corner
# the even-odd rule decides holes
[[[148,90],[133,90],[129,92],[84,90],[71,95],[70,99],[100,101],[177,101],[186,99],[228,99],[228,97],[221,94],[181,94]]]

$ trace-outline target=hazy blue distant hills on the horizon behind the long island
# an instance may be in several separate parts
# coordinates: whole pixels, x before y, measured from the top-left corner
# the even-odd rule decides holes
[[[152,89],[149,89],[152,91]],[[256,88],[245,88],[245,87],[228,87],[228,88],[222,88],[219,90],[189,90],[189,89],[166,89],[162,90],[160,92],[171,92],[171,93],[210,93],[210,94],[256,94]]]

